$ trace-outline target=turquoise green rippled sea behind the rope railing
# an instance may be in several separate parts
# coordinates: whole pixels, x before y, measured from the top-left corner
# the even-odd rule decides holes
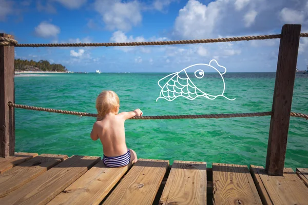
[[[226,73],[230,99],[160,95],[159,79],[168,73],[44,74],[15,77],[15,103],[95,113],[102,90],[120,97],[120,112],[140,108],[144,115],[245,113],[271,111],[275,73]],[[200,87],[199,87],[200,86]],[[198,88],[220,94],[223,84],[206,73]],[[292,111],[308,114],[308,75],[297,74]],[[265,166],[271,117],[220,119],[127,120],[126,142],[139,158],[237,163]],[[94,117],[15,109],[16,151],[38,154],[102,156],[100,141],[92,141]],[[285,167],[308,167],[308,121],[291,117]]]

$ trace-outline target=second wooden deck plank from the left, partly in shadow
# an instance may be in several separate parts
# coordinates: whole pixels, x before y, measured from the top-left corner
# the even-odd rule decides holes
[[[64,161],[67,155],[41,154],[0,175],[0,198]]]

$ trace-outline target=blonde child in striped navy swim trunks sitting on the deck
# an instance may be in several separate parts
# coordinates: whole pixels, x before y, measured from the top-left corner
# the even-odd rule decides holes
[[[133,116],[141,116],[140,109],[119,113],[120,100],[113,91],[103,91],[96,100],[97,121],[91,131],[91,139],[100,138],[107,167],[123,167],[137,162],[137,154],[127,149],[124,122]]]

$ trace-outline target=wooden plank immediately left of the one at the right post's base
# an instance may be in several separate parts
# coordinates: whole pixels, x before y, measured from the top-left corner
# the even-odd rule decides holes
[[[214,204],[262,204],[245,165],[213,163]]]

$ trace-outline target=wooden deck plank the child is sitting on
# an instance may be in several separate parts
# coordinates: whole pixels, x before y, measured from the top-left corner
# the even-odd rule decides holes
[[[99,204],[130,167],[108,168],[101,160],[48,205]]]

